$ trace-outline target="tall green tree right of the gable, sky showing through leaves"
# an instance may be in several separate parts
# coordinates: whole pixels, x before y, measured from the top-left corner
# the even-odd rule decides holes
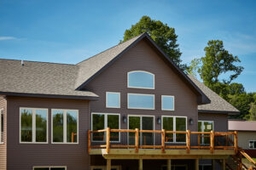
[[[201,58],[201,68],[199,73],[203,82],[211,88],[211,85],[219,81],[219,76],[223,73],[230,72],[230,77],[223,80],[224,83],[230,83],[243,71],[242,66],[235,64],[241,62],[237,56],[233,56],[224,49],[224,44],[219,40],[212,40],[207,43],[204,49],[206,56]]]

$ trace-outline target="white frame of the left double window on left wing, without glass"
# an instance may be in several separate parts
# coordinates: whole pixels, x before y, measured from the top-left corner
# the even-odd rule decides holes
[[[21,141],[21,110],[32,110],[32,142],[22,142]],[[36,141],[36,110],[44,110],[46,111],[46,142],[37,142]],[[49,130],[49,118],[48,118],[48,109],[46,108],[31,108],[31,107],[20,107],[20,144],[48,144],[49,138],[48,138],[48,130]]]

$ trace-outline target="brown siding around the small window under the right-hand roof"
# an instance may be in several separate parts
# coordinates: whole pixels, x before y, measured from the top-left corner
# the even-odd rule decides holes
[[[214,131],[228,132],[228,115],[227,114],[199,113],[198,120],[213,121]]]

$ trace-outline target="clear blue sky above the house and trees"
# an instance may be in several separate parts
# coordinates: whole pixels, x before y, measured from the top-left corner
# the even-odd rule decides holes
[[[183,63],[212,39],[241,59],[256,92],[256,1],[0,0],[0,58],[75,64],[119,43],[143,15],[176,29]]]

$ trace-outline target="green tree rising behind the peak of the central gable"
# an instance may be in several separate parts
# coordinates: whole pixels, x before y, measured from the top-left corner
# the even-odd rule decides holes
[[[157,45],[180,67],[181,65],[181,52],[177,44],[177,35],[175,29],[163,24],[160,20],[151,20],[148,16],[143,16],[135,25],[132,25],[130,29],[125,30],[124,39],[121,42],[125,42],[132,37],[147,32],[148,35],[157,43]]]

